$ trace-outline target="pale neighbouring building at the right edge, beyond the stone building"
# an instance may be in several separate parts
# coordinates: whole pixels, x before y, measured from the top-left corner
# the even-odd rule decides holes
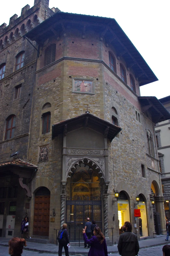
[[[159,100],[170,112],[170,96]],[[165,216],[170,219],[170,119],[159,122],[155,126],[159,164],[161,170],[162,193],[164,197]]]

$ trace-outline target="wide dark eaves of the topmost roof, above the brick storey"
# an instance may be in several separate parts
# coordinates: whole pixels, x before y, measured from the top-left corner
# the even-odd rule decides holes
[[[43,45],[43,42],[52,36],[59,38],[61,32],[66,35],[67,29],[70,28],[80,29],[82,34],[85,33],[85,30],[93,29],[100,34],[100,38],[104,37],[106,43],[115,48],[117,56],[122,56],[127,66],[133,69],[140,86],[158,80],[131,40],[112,18],[57,12],[31,29],[25,36],[32,41],[35,40],[39,45]]]

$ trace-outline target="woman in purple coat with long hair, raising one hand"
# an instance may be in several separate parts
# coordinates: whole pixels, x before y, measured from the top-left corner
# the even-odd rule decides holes
[[[83,238],[85,243],[90,244],[88,256],[108,256],[106,240],[99,227],[94,228],[94,236],[90,239],[83,230]]]

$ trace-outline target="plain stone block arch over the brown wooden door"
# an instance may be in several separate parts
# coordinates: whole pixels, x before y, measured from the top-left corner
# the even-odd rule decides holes
[[[33,182],[32,182],[32,193],[36,193],[36,191],[40,187],[47,187],[50,190],[51,194],[55,192],[53,183],[45,177],[40,177],[39,179],[33,180]]]

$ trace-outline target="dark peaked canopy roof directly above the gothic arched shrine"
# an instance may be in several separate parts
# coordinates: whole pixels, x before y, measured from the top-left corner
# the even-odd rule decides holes
[[[90,113],[85,113],[81,116],[54,124],[52,126],[52,139],[60,133],[66,134],[67,132],[71,132],[82,127],[95,130],[111,141],[121,131],[120,127],[95,117]]]

